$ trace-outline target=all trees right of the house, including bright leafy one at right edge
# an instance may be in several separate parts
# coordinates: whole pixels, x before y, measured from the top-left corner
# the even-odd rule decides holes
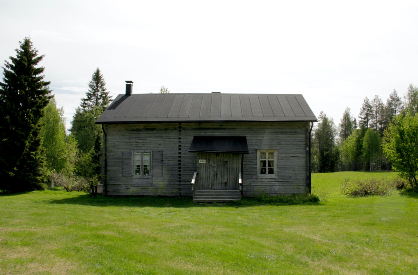
[[[311,136],[312,171],[395,169],[416,185],[417,121],[418,87],[413,84],[403,100],[395,89],[386,103],[378,95],[366,97],[357,117],[347,107],[338,126],[321,112]]]

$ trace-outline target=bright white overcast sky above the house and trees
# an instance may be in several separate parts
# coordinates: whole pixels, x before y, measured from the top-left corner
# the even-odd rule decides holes
[[[0,0],[0,60],[30,36],[67,128],[99,67],[125,92],[303,94],[338,124],[418,85],[418,2]],[[4,66],[4,62],[1,62]]]

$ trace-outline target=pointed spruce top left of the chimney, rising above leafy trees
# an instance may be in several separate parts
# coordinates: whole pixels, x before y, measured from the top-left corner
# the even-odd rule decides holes
[[[86,92],[86,96],[81,103],[81,107],[84,110],[90,110],[97,106],[103,107],[104,110],[110,104],[112,97],[109,96],[106,82],[104,82],[103,74],[101,74],[99,68],[96,68],[92,75],[92,80],[89,81],[89,89]]]

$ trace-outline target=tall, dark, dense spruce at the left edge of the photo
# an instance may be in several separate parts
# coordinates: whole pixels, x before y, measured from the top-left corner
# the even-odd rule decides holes
[[[49,81],[43,81],[43,59],[30,38],[19,42],[0,82],[0,190],[44,188],[45,162],[41,147],[41,118],[48,104]]]

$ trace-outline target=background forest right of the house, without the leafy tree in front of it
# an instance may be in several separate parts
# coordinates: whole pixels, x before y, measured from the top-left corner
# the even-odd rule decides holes
[[[357,116],[347,107],[338,125],[321,112],[311,135],[312,171],[392,170],[383,150],[385,133],[396,117],[415,117],[417,112],[418,87],[413,84],[403,99],[395,89],[385,103],[379,95],[366,97]]]

